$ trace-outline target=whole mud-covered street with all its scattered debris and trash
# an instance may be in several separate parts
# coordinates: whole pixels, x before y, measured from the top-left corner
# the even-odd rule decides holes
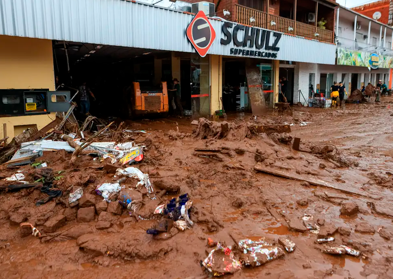
[[[66,116],[1,145],[1,278],[393,278],[390,97],[193,125]]]

